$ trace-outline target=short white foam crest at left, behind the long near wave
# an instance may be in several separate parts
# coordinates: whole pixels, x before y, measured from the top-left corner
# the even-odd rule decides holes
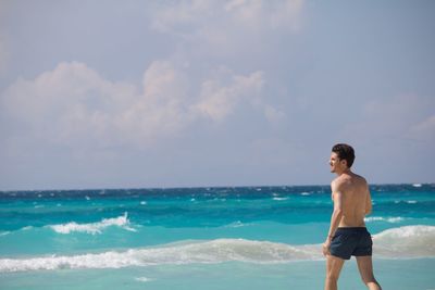
[[[95,235],[101,234],[103,229],[111,226],[117,226],[126,230],[136,231],[134,228],[129,227],[127,213],[124,213],[124,215],[114,218],[103,218],[101,222],[98,223],[77,224],[75,222],[71,222],[67,224],[52,225],[48,227],[52,228],[55,232],[65,235],[74,231]]]

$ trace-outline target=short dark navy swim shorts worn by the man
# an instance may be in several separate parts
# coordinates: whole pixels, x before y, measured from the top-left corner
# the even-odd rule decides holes
[[[331,241],[332,255],[349,260],[351,255],[372,255],[372,237],[365,227],[337,228]]]

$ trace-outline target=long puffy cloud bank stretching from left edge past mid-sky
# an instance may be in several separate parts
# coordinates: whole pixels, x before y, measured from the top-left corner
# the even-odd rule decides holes
[[[104,79],[84,63],[61,63],[33,80],[16,80],[1,94],[0,110],[10,126],[23,126],[13,135],[72,148],[142,147],[202,118],[223,122],[238,106],[254,106],[264,83],[261,72],[228,70],[196,83],[183,70],[156,61],[137,87]]]

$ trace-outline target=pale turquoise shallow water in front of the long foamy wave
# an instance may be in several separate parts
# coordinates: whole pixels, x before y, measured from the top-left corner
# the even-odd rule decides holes
[[[435,259],[375,260],[384,289],[435,289]],[[57,269],[2,274],[0,289],[323,289],[324,261],[285,264],[160,265],[122,269]],[[340,289],[365,289],[356,262],[345,264]]]

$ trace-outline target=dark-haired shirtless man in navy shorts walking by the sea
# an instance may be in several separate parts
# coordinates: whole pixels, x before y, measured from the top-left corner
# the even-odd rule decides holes
[[[326,256],[325,290],[337,289],[337,280],[346,260],[356,256],[362,281],[369,289],[380,290],[373,276],[372,238],[364,216],[372,211],[365,179],[350,171],[355,152],[348,144],[336,144],[331,153],[331,172],[337,174],[331,184],[334,212],[330,231],[323,243]]]

